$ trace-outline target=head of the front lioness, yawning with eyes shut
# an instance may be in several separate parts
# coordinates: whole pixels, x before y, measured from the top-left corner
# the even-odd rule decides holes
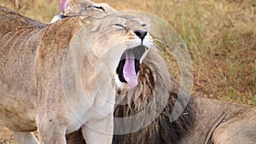
[[[111,66],[114,67],[112,73],[117,88],[136,87],[142,60],[153,45],[148,24],[131,15],[111,14],[92,25],[95,27],[92,31],[105,32],[96,43],[97,49],[92,49],[94,53],[102,57],[108,51],[108,57],[118,60]],[[113,47],[118,49],[111,50]]]

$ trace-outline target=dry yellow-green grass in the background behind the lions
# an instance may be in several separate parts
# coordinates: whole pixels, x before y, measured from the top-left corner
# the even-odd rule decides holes
[[[35,20],[49,23],[60,13],[60,0],[0,0]],[[95,0],[115,9],[158,15],[173,26],[187,44],[192,59],[192,94],[256,106],[255,0]],[[178,66],[160,51],[175,78]],[[0,122],[0,144],[15,143]]]

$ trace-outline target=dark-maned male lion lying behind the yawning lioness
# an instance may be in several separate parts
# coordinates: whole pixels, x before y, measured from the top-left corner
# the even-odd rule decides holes
[[[169,95],[169,101],[160,115],[142,130],[126,135],[113,135],[116,144],[255,144],[256,142],[256,108],[190,96],[190,101],[183,114],[176,121],[170,122],[172,107],[177,95],[189,95],[171,78],[166,91],[165,85],[169,74],[160,55],[149,50],[143,60],[140,72],[142,89],[131,89],[122,97],[136,94],[137,101],[130,105],[118,105],[114,109],[115,117],[128,117],[143,109],[153,97]],[[152,73],[155,73],[154,76]],[[154,77],[154,78],[153,78]],[[142,84],[142,85],[141,85]],[[152,90],[154,87],[154,91]],[[179,89],[181,91],[179,91]],[[148,97],[143,97],[148,95]],[[117,95],[119,97],[119,95]],[[164,102],[164,101],[162,101]],[[183,101],[179,101],[180,105]],[[161,105],[161,103],[159,103]],[[146,117],[145,117],[146,118]],[[137,119],[140,121],[141,119]],[[133,123],[127,124],[132,127]],[[115,131],[122,124],[115,123]],[[83,144],[80,131],[67,135],[68,144]]]

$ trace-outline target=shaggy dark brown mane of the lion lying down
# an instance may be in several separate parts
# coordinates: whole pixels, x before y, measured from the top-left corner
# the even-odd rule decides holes
[[[155,118],[151,124],[142,130],[126,135],[114,135],[113,143],[179,143],[183,136],[189,132],[195,122],[192,97],[186,107],[187,103],[184,101],[184,98],[189,96],[189,94],[185,90],[180,89],[180,86],[176,81],[170,78],[164,61],[160,58],[160,55],[154,51],[148,52],[148,55],[143,62],[140,72],[140,81],[142,84],[137,87],[137,89],[131,90],[125,94],[124,101],[130,104],[118,105],[115,108],[115,117],[131,117],[137,112],[142,111],[148,105],[148,102],[152,101],[154,98],[154,107],[160,107],[166,103],[162,97],[168,97],[166,107],[164,107],[163,111],[160,112],[160,115]],[[141,91],[138,92],[138,90]],[[119,96],[120,95],[117,97]],[[137,97],[137,99],[129,102],[129,100],[133,100],[133,96]],[[177,101],[177,96],[180,97],[180,99],[178,99],[179,101]],[[122,97],[124,97],[124,95]],[[121,103],[125,103],[124,101]],[[186,108],[180,117],[178,117],[174,122],[171,122],[171,112],[175,102],[178,103],[179,107],[183,106]],[[154,108],[150,110],[150,112],[153,113],[154,111],[156,111]],[[125,129],[132,129],[135,123],[143,124],[145,120],[147,119],[138,118],[136,122],[127,121],[127,124],[125,125],[128,126]],[[124,126],[124,124],[115,122],[115,132],[117,132],[119,127],[122,126]]]

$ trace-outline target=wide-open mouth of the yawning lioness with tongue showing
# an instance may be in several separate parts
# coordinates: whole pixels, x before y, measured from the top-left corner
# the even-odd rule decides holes
[[[127,83],[131,89],[138,84],[137,74],[140,70],[140,61],[147,50],[148,47],[143,45],[126,49],[119,60],[116,70],[119,80],[122,83]]]

